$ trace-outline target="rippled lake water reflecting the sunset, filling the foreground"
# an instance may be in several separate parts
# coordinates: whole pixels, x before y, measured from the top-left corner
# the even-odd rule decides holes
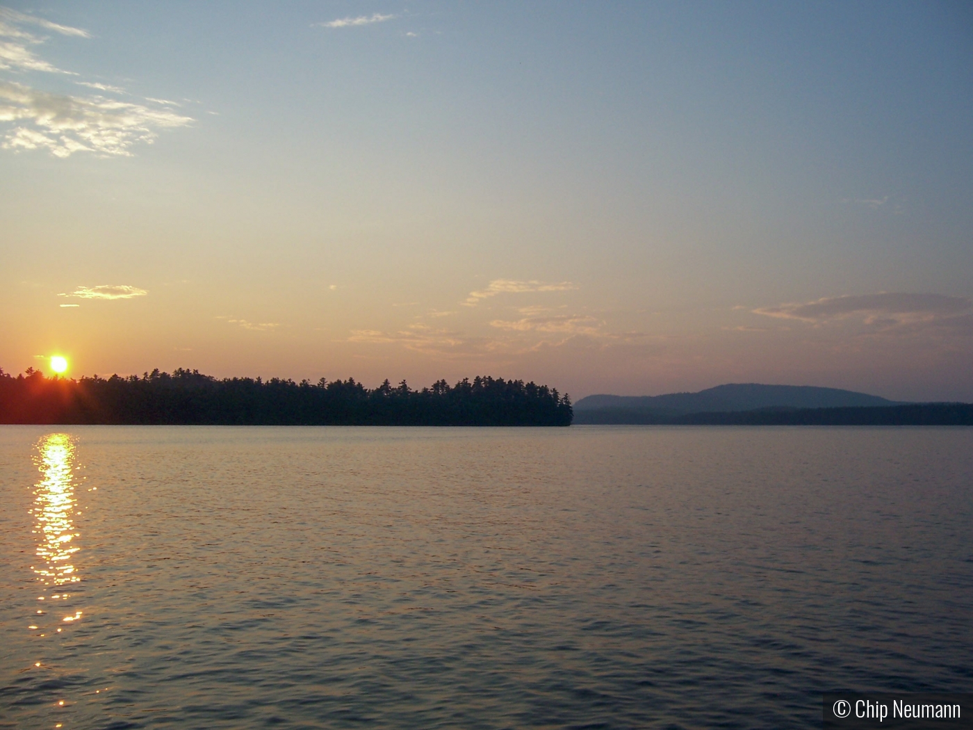
[[[3,728],[810,728],[973,685],[973,428],[2,426],[0,480]]]

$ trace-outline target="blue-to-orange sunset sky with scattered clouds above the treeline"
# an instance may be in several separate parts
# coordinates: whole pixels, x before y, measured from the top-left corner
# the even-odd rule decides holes
[[[0,367],[973,401],[965,2],[10,2]]]

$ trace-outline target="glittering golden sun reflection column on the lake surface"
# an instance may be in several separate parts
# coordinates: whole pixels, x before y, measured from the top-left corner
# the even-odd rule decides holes
[[[36,521],[34,534],[40,535],[40,560],[32,567],[38,581],[56,588],[81,580],[73,558],[79,548],[72,544],[78,537],[74,526],[78,504],[74,493],[74,439],[66,433],[48,434],[38,443],[38,452],[37,467],[43,478],[34,487],[31,513]]]

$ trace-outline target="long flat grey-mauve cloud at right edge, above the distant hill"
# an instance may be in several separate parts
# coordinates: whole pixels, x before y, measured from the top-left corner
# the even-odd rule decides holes
[[[825,297],[803,304],[783,304],[753,310],[780,319],[799,319],[811,324],[857,317],[866,324],[904,324],[954,316],[973,307],[967,297],[944,294],[880,292],[858,296]]]

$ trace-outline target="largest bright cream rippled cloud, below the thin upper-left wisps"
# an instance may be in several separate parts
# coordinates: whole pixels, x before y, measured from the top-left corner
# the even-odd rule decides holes
[[[65,96],[0,81],[0,122],[30,125],[11,130],[4,149],[46,149],[64,158],[75,152],[131,155],[132,145],[152,144],[159,129],[185,127],[193,120],[169,109]]]

